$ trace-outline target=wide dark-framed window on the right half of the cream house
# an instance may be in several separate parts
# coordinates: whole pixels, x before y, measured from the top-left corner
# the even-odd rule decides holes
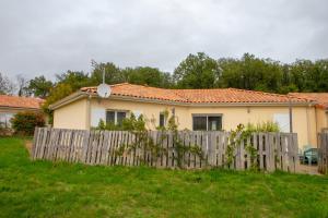
[[[194,131],[219,131],[222,130],[221,114],[192,114]]]

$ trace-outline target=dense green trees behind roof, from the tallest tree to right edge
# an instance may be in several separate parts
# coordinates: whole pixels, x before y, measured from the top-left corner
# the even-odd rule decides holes
[[[270,93],[328,92],[328,60],[297,60],[282,64],[245,53],[218,61],[189,55],[174,72],[178,88],[235,87]]]

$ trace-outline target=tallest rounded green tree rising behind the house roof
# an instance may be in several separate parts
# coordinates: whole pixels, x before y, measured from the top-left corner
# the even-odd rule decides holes
[[[216,87],[220,77],[218,61],[203,52],[189,55],[174,71],[178,88]]]

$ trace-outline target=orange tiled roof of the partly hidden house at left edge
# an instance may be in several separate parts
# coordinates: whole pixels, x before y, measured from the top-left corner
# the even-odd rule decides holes
[[[39,109],[44,101],[40,98],[0,95],[0,107]]]

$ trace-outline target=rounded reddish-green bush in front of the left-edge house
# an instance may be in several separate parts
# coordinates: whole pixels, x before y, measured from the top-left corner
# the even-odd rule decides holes
[[[45,126],[45,117],[39,112],[24,111],[10,120],[15,134],[33,135],[36,126]]]

